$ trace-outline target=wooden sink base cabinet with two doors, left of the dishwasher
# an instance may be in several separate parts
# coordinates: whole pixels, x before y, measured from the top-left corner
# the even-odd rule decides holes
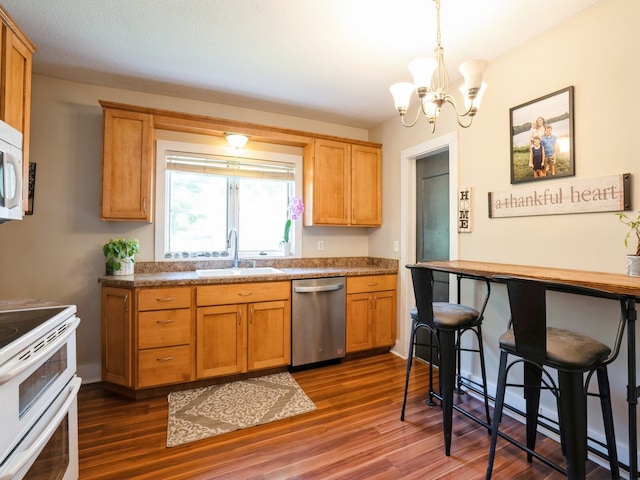
[[[198,287],[197,377],[289,365],[290,292],[290,282]]]

